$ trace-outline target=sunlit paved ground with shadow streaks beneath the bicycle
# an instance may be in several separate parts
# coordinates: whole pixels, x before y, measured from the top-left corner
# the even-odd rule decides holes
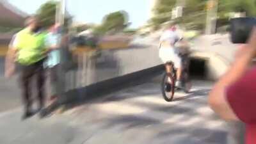
[[[163,100],[155,79],[49,118],[20,121],[20,109],[0,113],[0,143],[227,143],[227,125],[207,106],[212,83],[193,84],[193,93],[177,93],[173,102]]]

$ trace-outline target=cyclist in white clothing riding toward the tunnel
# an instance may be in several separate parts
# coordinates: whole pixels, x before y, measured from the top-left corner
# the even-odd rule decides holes
[[[172,68],[177,68],[177,81],[175,83],[175,86],[178,88],[181,88],[181,74],[182,74],[182,61],[179,56],[179,51],[175,47],[175,43],[181,40],[182,37],[179,36],[177,33],[176,26],[171,26],[170,28],[166,29],[163,34],[160,37],[160,45],[159,45],[159,57],[163,61],[166,67],[166,73],[170,77],[172,76]],[[173,63],[174,67],[170,65],[170,63]],[[169,82],[171,83],[171,80],[169,78]]]

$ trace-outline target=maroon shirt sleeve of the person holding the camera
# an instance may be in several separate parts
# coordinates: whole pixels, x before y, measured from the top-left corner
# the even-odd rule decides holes
[[[256,124],[256,67],[228,86],[227,101],[237,117],[246,124]]]

